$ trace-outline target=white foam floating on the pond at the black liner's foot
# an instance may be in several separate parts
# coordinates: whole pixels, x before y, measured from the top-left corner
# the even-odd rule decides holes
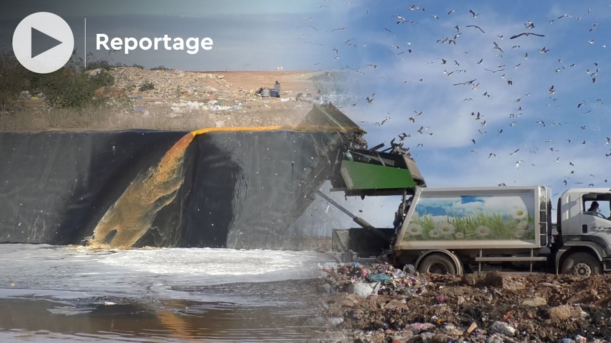
[[[318,264],[331,259],[312,251],[0,244],[0,260],[11,261],[3,266],[0,297],[191,298],[177,289],[312,279],[320,276]]]

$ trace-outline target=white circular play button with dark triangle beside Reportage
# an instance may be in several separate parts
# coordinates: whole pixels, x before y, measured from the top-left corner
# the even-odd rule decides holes
[[[49,12],[26,16],[13,33],[15,57],[34,73],[53,73],[64,67],[74,46],[75,38],[68,23]]]

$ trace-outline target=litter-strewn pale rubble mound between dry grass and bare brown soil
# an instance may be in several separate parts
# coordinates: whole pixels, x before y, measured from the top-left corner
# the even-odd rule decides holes
[[[98,72],[101,70],[89,74]],[[295,111],[296,107],[309,107],[302,101],[316,100],[311,94],[294,94],[291,89],[284,90],[281,98],[262,98],[256,89],[236,87],[223,74],[137,67],[115,67],[108,73],[114,84],[100,90],[110,98],[108,103],[128,99],[133,107],[128,113],[143,118],[205,118],[205,126],[287,125],[298,123],[307,113]]]

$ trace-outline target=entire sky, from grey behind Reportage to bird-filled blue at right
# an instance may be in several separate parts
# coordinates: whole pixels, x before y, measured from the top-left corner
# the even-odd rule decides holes
[[[13,6],[0,15],[4,37],[10,23],[32,9],[50,10],[70,22],[79,53],[84,16],[89,51],[94,32],[214,40],[213,50],[196,56],[114,54],[115,62],[185,70],[349,67],[345,84],[337,85],[349,98],[343,111],[368,131],[372,146],[408,134],[404,146],[430,187],[543,184],[556,196],[568,187],[610,187],[609,1],[26,1]],[[510,39],[523,32],[544,37]],[[390,119],[376,125],[385,117]],[[396,204],[386,208],[394,211]]]

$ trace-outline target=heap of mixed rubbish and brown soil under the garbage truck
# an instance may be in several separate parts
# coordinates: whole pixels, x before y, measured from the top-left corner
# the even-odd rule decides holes
[[[321,342],[607,342],[611,275],[419,275],[390,264],[320,266]]]

